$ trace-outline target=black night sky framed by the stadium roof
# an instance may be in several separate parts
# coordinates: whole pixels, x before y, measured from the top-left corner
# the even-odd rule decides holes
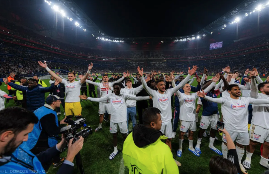
[[[193,34],[242,0],[130,1],[74,0],[106,34],[116,37],[163,37]]]

